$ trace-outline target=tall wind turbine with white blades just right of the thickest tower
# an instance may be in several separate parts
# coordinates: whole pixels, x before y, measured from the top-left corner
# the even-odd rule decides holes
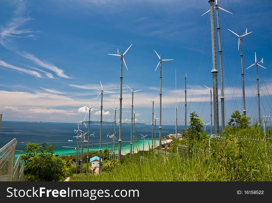
[[[218,53],[219,53],[219,65],[220,65],[220,79],[221,79],[221,97],[220,97],[220,99],[221,99],[221,123],[222,123],[222,130],[223,130],[224,127],[225,127],[225,96],[224,96],[223,62],[222,62],[222,50],[221,50],[221,32],[220,32],[220,26],[219,26],[218,9],[226,11],[226,12],[228,12],[230,14],[233,14],[233,13],[219,7],[218,2],[219,2],[219,0],[215,0],[215,7],[214,8],[215,8],[215,11],[216,11],[216,19],[217,19],[218,49],[219,49]],[[208,12],[209,11],[207,11],[206,13],[208,13]]]

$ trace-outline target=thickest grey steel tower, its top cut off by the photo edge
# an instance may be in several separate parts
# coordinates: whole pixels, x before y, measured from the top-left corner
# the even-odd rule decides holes
[[[217,73],[216,68],[216,49],[215,49],[215,16],[214,16],[214,0],[209,0],[210,3],[210,28],[211,28],[211,47],[212,47],[212,61],[213,69],[211,70],[213,76],[213,100],[214,100],[214,129],[215,134],[219,134],[219,115],[218,115],[218,88],[217,88]],[[207,11],[207,12],[209,12]]]

